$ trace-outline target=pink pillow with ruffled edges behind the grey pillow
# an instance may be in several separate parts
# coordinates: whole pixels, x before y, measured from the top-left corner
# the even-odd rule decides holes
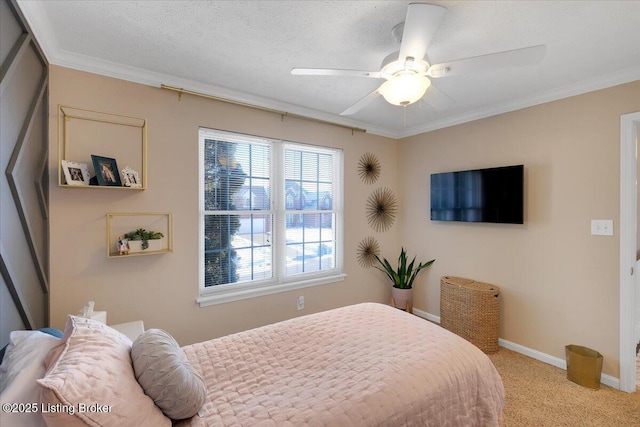
[[[133,375],[131,340],[92,319],[69,316],[62,342],[45,360],[37,383],[49,427],[170,426]]]

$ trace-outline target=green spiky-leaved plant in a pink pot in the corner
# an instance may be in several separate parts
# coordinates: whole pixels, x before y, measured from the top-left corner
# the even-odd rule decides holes
[[[397,308],[411,311],[413,304],[413,281],[416,276],[418,276],[418,273],[433,264],[435,259],[425,263],[421,262],[416,266],[416,257],[413,257],[413,260],[411,260],[410,263],[407,263],[407,251],[405,251],[403,247],[400,251],[400,256],[398,257],[397,268],[394,268],[386,258],[380,259],[380,257],[376,255],[376,260],[379,265],[374,265],[374,267],[385,273],[393,283],[393,288],[391,288],[391,299],[394,305]]]

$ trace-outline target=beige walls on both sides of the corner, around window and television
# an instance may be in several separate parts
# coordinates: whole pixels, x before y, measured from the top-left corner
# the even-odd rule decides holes
[[[57,105],[148,119],[148,184],[140,192],[60,188]],[[359,301],[388,301],[389,288],[356,261],[358,243],[375,237],[385,256],[400,244],[436,263],[416,284],[414,306],[439,314],[439,278],[459,275],[502,289],[500,336],[564,358],[575,343],[604,355],[618,376],[620,115],[640,111],[640,82],[560,100],[400,142],[285,118],[121,80],[51,67],[51,324],[86,301],[109,322],[142,319],[181,344]],[[198,296],[198,127],[340,147],[345,153],[344,282],[200,308]],[[382,162],[374,185],[357,162]],[[525,165],[525,224],[431,222],[431,173]],[[123,165],[120,165],[123,166]],[[179,171],[179,173],[178,173]],[[376,233],[365,203],[374,188],[397,192],[397,223]],[[127,259],[105,255],[105,213],[171,211],[174,253]],[[591,219],[613,219],[616,235],[590,235]],[[306,307],[296,311],[298,295]]]

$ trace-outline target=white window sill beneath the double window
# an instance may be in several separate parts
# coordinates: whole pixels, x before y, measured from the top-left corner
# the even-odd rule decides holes
[[[210,305],[224,304],[227,302],[240,301],[248,298],[255,298],[264,295],[276,294],[279,292],[292,291],[295,289],[309,288],[311,286],[326,285],[329,283],[341,282],[347,277],[346,274],[336,274],[333,276],[318,277],[299,282],[281,283],[276,285],[264,286],[259,288],[226,290],[216,294],[201,295],[196,300],[200,307]]]

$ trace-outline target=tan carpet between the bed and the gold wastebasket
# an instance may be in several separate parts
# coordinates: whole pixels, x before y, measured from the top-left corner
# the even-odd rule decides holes
[[[489,357],[505,386],[504,427],[640,426],[640,392],[582,387],[566,371],[504,348]]]

